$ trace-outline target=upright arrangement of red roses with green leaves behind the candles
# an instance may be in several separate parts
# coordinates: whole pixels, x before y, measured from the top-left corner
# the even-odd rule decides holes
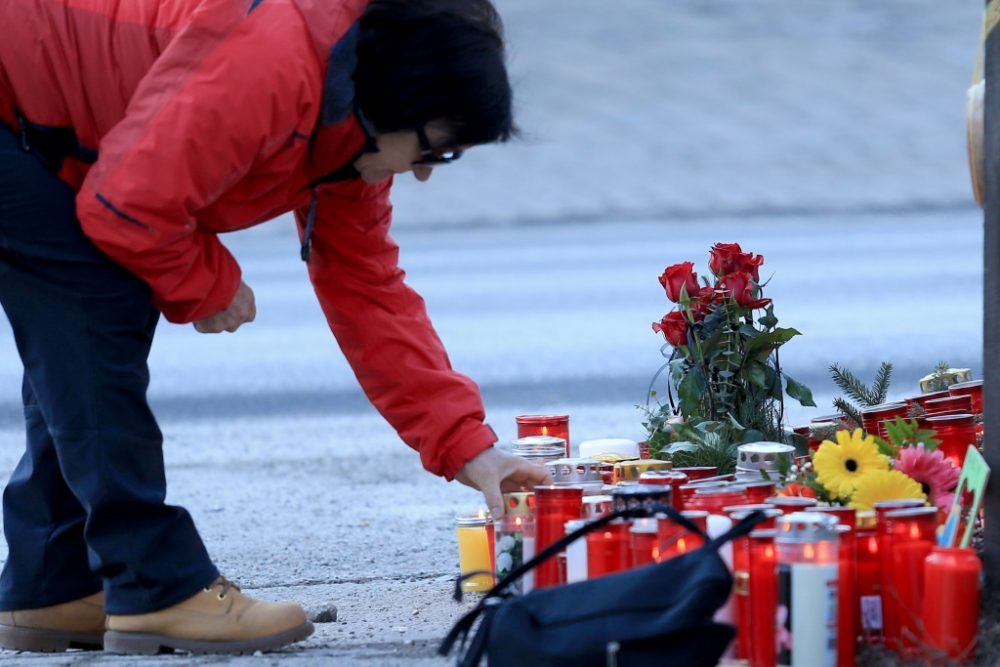
[[[763,295],[763,263],[762,255],[738,243],[716,243],[710,276],[699,280],[693,262],[668,266],[660,276],[675,305],[653,323],[666,340],[661,353],[667,357],[644,408],[653,456],[731,471],[738,445],[795,437],[782,423],[785,394],[815,405],[810,390],[779,363],[779,348],[800,334],[778,326],[774,304]],[[663,371],[667,400],[660,402],[655,386]]]

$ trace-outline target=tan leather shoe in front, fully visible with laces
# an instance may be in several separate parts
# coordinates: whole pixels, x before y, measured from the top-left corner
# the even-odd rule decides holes
[[[247,597],[223,577],[172,607],[149,614],[110,614],[104,650],[153,655],[253,653],[305,639],[313,632],[306,612],[294,602]]]

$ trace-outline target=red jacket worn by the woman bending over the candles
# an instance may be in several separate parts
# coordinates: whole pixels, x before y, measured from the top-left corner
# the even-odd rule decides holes
[[[365,0],[0,0],[0,120],[70,127],[80,224],[172,322],[229,305],[218,233],[295,210],[357,155],[348,32]],[[372,403],[451,478],[495,441],[389,236],[390,183],[316,189],[309,276]]]

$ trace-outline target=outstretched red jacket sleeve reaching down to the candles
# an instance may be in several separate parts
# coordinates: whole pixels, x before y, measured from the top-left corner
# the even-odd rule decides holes
[[[365,394],[423,466],[452,479],[496,441],[476,384],[452,369],[389,236],[390,184],[319,190],[309,277]],[[300,234],[307,210],[296,212]]]

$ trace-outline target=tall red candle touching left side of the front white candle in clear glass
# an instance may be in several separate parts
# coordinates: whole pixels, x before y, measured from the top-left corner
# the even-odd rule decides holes
[[[777,632],[776,575],[773,530],[750,533],[750,667],[774,667],[777,661],[774,638]]]

